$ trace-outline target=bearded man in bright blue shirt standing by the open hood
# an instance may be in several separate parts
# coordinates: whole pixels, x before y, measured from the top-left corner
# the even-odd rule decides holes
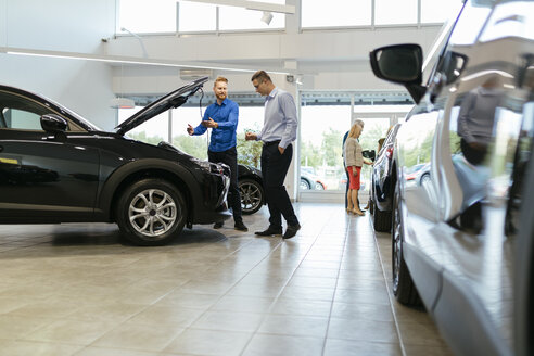
[[[236,230],[249,231],[243,224],[241,213],[241,196],[238,188],[238,151],[236,149],[236,130],[238,128],[239,106],[227,98],[228,79],[217,77],[213,91],[217,102],[207,106],[204,117],[199,126],[193,128],[188,125],[189,135],[203,135],[212,129],[207,158],[213,163],[224,163],[230,167],[230,189],[228,191],[228,204],[232,208]],[[221,228],[224,223],[216,223],[215,229]]]

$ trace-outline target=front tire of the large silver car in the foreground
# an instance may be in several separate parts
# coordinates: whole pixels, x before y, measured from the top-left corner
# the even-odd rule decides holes
[[[403,255],[403,219],[399,204],[399,188],[395,189],[393,196],[393,230],[392,230],[392,269],[393,269],[393,294],[395,298],[407,306],[420,306],[421,298],[416,284],[411,279],[408,266]]]

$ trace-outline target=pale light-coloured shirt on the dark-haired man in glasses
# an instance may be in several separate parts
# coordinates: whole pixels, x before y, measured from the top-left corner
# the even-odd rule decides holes
[[[289,92],[275,88],[265,99],[264,128],[257,135],[257,140],[278,143],[282,149],[296,139],[296,105]]]

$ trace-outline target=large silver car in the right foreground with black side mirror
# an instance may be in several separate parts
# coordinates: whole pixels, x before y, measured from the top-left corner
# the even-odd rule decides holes
[[[425,85],[419,46],[371,52],[417,103],[392,157],[393,293],[457,355],[534,355],[532,28],[533,1],[462,2]],[[409,183],[421,163],[429,179]]]

